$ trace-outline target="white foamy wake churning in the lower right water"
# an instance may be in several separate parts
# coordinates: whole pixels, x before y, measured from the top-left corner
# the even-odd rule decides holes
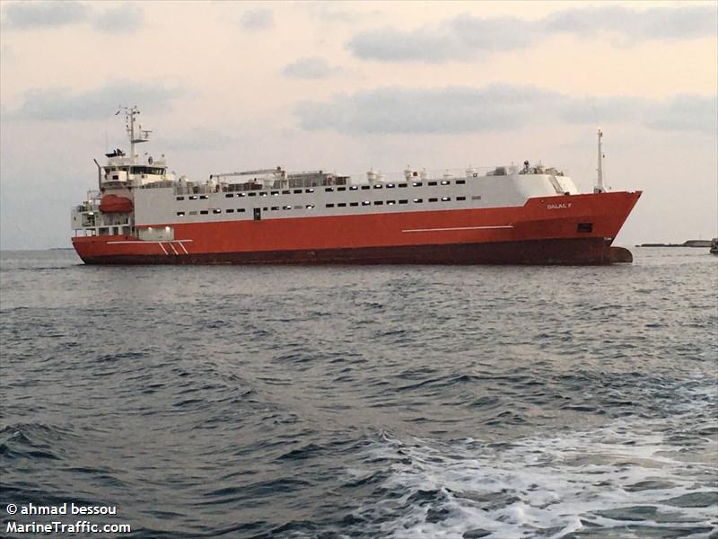
[[[372,512],[381,514],[382,535],[398,539],[558,538],[591,529],[707,537],[718,530],[715,436],[707,429],[681,446],[665,432],[675,430],[617,422],[510,445],[384,435],[370,456],[393,459],[384,486],[402,494]]]

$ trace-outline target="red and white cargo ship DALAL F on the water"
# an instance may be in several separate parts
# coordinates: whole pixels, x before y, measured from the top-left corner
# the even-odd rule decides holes
[[[151,131],[124,108],[129,154],[95,164],[98,189],[71,212],[73,246],[87,264],[608,264],[641,191],[580,193],[541,164],[397,177],[286,172],[281,167],[168,172],[164,155],[138,155]],[[627,254],[626,254],[627,253]]]

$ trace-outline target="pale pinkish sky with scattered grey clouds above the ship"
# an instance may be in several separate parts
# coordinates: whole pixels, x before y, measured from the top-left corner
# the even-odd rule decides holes
[[[137,105],[170,168],[362,177],[544,163],[596,130],[617,244],[718,236],[716,2],[0,1],[0,248],[70,245]]]

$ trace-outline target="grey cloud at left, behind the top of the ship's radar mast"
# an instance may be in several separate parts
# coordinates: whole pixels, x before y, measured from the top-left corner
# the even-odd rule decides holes
[[[22,105],[4,115],[6,119],[40,121],[103,119],[117,110],[118,104],[139,104],[153,113],[169,110],[172,100],[184,92],[160,84],[117,81],[87,92],[73,93],[66,88],[29,90]]]

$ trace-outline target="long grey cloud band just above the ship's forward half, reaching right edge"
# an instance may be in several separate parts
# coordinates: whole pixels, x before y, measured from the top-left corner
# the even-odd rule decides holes
[[[541,123],[635,123],[644,128],[715,134],[718,96],[681,95],[667,101],[632,96],[574,98],[536,86],[483,88],[383,87],[327,102],[301,102],[302,128],[348,134],[505,131]]]

